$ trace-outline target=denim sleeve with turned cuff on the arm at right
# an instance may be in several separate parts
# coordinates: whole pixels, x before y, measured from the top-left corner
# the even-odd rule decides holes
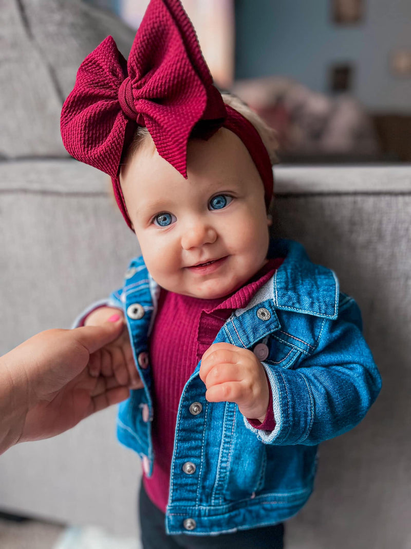
[[[275,428],[254,429],[266,444],[316,445],[352,429],[381,389],[381,378],[350,298],[336,320],[322,320],[317,346],[294,369],[263,363],[273,394]]]

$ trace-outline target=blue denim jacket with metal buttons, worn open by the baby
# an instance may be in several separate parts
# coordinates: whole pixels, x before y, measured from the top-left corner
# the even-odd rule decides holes
[[[319,442],[360,422],[381,379],[361,334],[356,302],[339,292],[334,273],[314,265],[304,248],[272,240],[269,257],[285,257],[247,307],[217,334],[253,350],[271,384],[276,427],[252,427],[232,402],[207,402],[200,363],[180,397],[165,527],[170,534],[210,535],[281,522],[309,498]],[[142,257],[134,259],[121,290],[107,304],[121,307],[144,388],[119,406],[117,435],[152,474],[153,417],[148,336],[158,300]],[[187,467],[189,464],[189,467]]]

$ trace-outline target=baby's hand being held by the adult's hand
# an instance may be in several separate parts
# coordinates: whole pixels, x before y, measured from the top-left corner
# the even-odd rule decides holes
[[[100,326],[109,320],[113,315],[123,318],[121,309],[114,307],[99,307],[85,319],[85,326]],[[98,377],[114,376],[117,383],[127,385],[130,389],[141,389],[143,383],[135,367],[132,346],[127,331],[124,326],[122,333],[117,339],[109,345],[105,345],[100,351],[96,351],[93,357],[90,357],[89,363],[90,375]]]

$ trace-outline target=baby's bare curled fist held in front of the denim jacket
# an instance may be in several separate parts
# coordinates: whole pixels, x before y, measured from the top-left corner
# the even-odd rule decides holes
[[[214,343],[204,353],[199,376],[209,402],[236,402],[243,416],[263,422],[270,401],[264,367],[252,351]]]

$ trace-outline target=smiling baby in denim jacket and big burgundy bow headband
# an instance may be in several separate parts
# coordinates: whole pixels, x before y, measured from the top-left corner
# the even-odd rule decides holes
[[[142,252],[82,320],[127,324],[105,368],[133,389],[118,438],[142,459],[145,548],[283,547],[317,445],[380,390],[355,301],[270,240],[272,133],[224,101],[180,2],[152,0],[127,69],[107,38],[62,111],[67,150],[111,175]]]

